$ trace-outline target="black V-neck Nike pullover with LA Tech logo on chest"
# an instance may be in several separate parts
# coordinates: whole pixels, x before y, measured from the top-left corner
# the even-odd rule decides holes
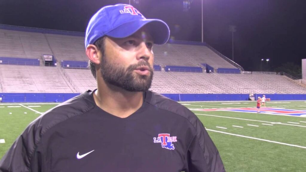
[[[225,170],[203,124],[181,104],[147,91],[140,109],[119,118],[96,106],[88,91],[30,123],[0,171]]]

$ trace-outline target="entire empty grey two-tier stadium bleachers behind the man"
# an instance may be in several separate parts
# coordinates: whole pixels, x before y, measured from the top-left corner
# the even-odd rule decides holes
[[[306,93],[304,84],[286,76],[240,73],[237,67],[205,45],[166,43],[155,45],[153,51],[154,65],[160,65],[161,68],[155,67],[161,71],[154,72],[151,90],[158,93]],[[52,54],[58,64],[65,61],[66,65],[44,67],[0,63],[0,92],[71,93],[97,87],[90,70],[75,69],[86,67],[88,61],[84,37],[0,29],[0,57],[41,59],[43,54]],[[80,62],[75,64],[75,61]],[[74,69],[66,69],[67,64]],[[206,68],[201,64],[213,67],[213,73],[204,72]],[[174,68],[179,72],[174,72],[177,71],[172,70]],[[197,71],[192,72],[193,69]],[[235,70],[237,73],[231,74]]]

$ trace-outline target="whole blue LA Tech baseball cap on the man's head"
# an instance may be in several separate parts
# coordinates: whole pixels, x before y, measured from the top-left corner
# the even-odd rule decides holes
[[[94,44],[103,36],[125,38],[134,34],[144,25],[148,25],[155,44],[168,41],[168,25],[158,19],[146,19],[136,8],[127,4],[105,6],[93,15],[88,23],[85,35],[85,48]]]

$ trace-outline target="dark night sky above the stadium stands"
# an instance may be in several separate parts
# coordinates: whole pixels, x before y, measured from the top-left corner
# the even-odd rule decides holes
[[[201,41],[201,0],[184,11],[183,0],[130,0],[146,18],[165,21],[176,40]],[[0,0],[0,24],[85,32],[101,7],[129,0]],[[272,70],[306,58],[306,1],[203,0],[204,42],[246,71]],[[269,58],[261,64],[260,59]]]

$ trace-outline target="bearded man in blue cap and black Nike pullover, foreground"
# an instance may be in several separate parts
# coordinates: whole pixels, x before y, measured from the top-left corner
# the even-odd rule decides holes
[[[32,122],[0,171],[225,171],[196,115],[148,91],[152,45],[169,35],[166,23],[130,5],[100,9],[85,36],[98,88]]]

